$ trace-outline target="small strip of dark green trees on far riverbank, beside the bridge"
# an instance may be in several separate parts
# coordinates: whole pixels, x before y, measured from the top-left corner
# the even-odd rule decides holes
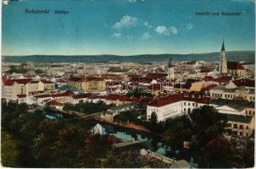
[[[72,104],[65,104],[63,107],[64,111],[75,111],[75,112],[82,112],[85,114],[92,114],[94,112],[102,112],[108,110],[110,107],[114,106],[113,104],[106,105],[103,101],[98,101],[97,103],[93,102],[83,102],[80,101],[79,103],[72,105]]]

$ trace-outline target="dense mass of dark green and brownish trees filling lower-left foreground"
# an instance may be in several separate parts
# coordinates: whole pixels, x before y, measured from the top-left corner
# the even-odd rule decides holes
[[[2,164],[9,167],[164,167],[112,149],[108,135],[92,135],[91,123],[50,120],[25,103],[2,102]]]

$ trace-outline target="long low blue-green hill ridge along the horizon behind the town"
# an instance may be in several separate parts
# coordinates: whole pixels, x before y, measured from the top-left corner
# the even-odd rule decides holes
[[[228,61],[254,63],[254,51],[226,52]],[[13,63],[105,63],[105,62],[134,62],[152,63],[167,62],[170,57],[174,61],[219,61],[220,52],[198,53],[198,54],[143,54],[133,56],[117,55],[31,55],[31,56],[3,56],[3,62]]]

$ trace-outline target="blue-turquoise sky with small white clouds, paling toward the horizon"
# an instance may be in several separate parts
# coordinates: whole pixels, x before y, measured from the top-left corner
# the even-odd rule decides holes
[[[253,0],[10,1],[2,6],[2,55],[219,52],[223,39],[226,51],[254,51],[254,5]],[[25,14],[26,8],[50,12]]]

